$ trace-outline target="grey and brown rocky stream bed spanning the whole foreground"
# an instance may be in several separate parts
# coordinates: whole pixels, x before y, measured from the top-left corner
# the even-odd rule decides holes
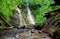
[[[48,34],[34,29],[11,29],[0,31],[0,39],[52,39]]]

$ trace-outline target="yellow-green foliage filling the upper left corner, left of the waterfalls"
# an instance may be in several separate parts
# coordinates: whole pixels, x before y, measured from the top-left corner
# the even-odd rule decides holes
[[[18,0],[0,0],[0,12],[2,12],[7,21],[9,20],[9,17],[13,15],[12,11],[17,5]]]

